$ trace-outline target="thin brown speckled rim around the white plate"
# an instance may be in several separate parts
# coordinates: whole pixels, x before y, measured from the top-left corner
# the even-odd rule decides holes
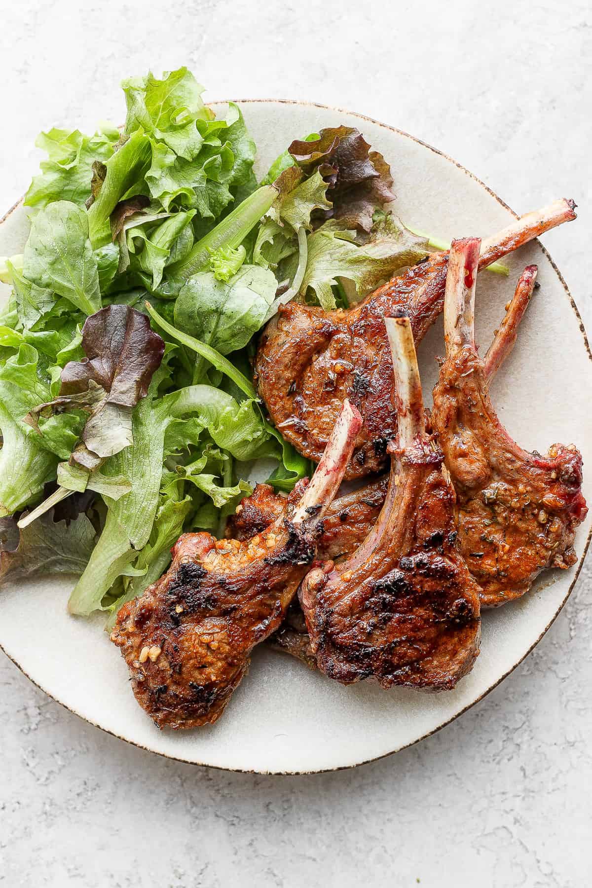
[[[227,99],[217,99],[217,100],[213,100],[213,101],[209,102],[209,104],[210,105],[219,105],[219,104],[224,104],[226,101],[227,101]],[[359,120],[366,120],[369,123],[375,123],[376,126],[383,127],[383,129],[385,129],[385,130],[390,130],[391,132],[397,132],[397,133],[399,133],[400,136],[405,136],[406,139],[411,139],[412,141],[416,142],[418,145],[422,145],[425,148],[429,148],[429,150],[431,152],[433,152],[435,155],[439,155],[440,157],[444,157],[444,159],[446,161],[449,161],[449,163],[454,163],[455,167],[457,167],[459,170],[462,170],[463,173],[465,173],[467,176],[472,178],[482,188],[485,188],[485,191],[488,194],[491,194],[491,196],[499,204],[501,204],[501,206],[505,210],[509,210],[509,212],[515,218],[518,218],[517,213],[515,213],[514,210],[512,210],[506,202],[502,201],[501,197],[499,197],[498,194],[495,194],[495,192],[492,191],[492,189],[489,186],[485,185],[485,182],[482,182],[481,179],[478,178],[477,176],[475,176],[472,172],[470,172],[470,170],[467,170],[465,167],[463,167],[462,163],[458,163],[458,161],[455,161],[453,157],[446,155],[443,151],[438,151],[438,148],[432,147],[427,142],[424,142],[422,139],[417,139],[415,136],[411,136],[408,132],[405,132],[403,130],[399,130],[397,127],[394,127],[394,126],[389,126],[387,123],[381,123],[380,121],[375,120],[374,117],[368,117],[367,115],[359,114],[356,111],[348,111],[345,108],[332,107],[330,105],[321,105],[318,102],[298,101],[296,99],[233,99],[233,101],[236,102],[238,105],[271,104],[271,105],[303,105],[303,106],[307,106],[307,107],[316,107],[316,108],[320,108],[323,111],[336,111],[338,113],[351,115],[352,117],[358,117]],[[8,210],[6,213],[4,213],[4,216],[2,218],[0,218],[0,225],[2,225],[2,223],[9,216],[11,216],[12,212],[14,210],[16,210],[17,207],[20,206],[22,201],[23,201],[23,198],[21,198],[20,201],[17,201],[11,207],[10,210]],[[561,272],[557,268],[553,259],[549,256],[549,251],[546,250],[546,248],[542,246],[540,241],[537,240],[536,242],[541,247],[543,254],[549,259],[549,263],[551,264],[554,272],[556,273],[557,277],[559,278],[559,281],[561,282],[561,284],[564,288],[565,294],[566,294],[567,298],[569,299],[570,305],[572,306],[572,311],[575,314],[576,318],[578,319],[581,337],[584,340],[584,345],[586,347],[586,351],[588,352],[588,358],[590,361],[592,361],[592,352],[590,352],[590,346],[588,344],[588,336],[586,334],[586,329],[584,328],[583,321],[581,320],[578,306],[573,301],[572,294],[570,293],[569,288],[564,281],[563,275],[561,274]],[[163,758],[169,758],[170,761],[181,762],[184,765],[197,765],[199,767],[215,768],[217,771],[228,771],[231,773],[257,773],[257,774],[262,774],[263,776],[270,776],[270,777],[272,777],[272,776],[290,776],[290,777],[310,776],[312,774],[317,774],[317,773],[332,773],[335,771],[346,771],[346,770],[349,770],[350,768],[359,767],[360,765],[369,765],[372,762],[378,762],[382,758],[394,756],[396,753],[401,752],[403,749],[408,749],[408,747],[414,746],[415,743],[419,743],[422,740],[425,740],[427,737],[431,737],[432,734],[438,733],[438,731],[441,731],[443,727],[446,727],[446,725],[450,725],[451,722],[455,721],[456,718],[460,718],[465,712],[472,709],[472,707],[477,705],[478,702],[485,700],[485,697],[487,696],[487,694],[491,694],[491,692],[498,685],[501,684],[501,682],[504,680],[504,678],[508,678],[510,672],[513,672],[517,668],[517,666],[519,666],[520,663],[525,660],[525,658],[528,656],[528,654],[530,654],[533,651],[533,649],[539,644],[539,642],[541,641],[541,638],[549,631],[549,629],[551,628],[553,623],[556,621],[557,616],[561,613],[561,611],[564,608],[565,602],[567,601],[567,599],[569,599],[570,595],[572,594],[575,584],[578,582],[578,577],[580,576],[580,570],[581,570],[581,568],[584,564],[584,561],[586,559],[586,555],[588,553],[588,548],[589,548],[591,540],[592,540],[592,528],[590,529],[590,532],[588,534],[588,539],[587,539],[586,544],[584,546],[584,550],[581,553],[580,560],[578,562],[578,566],[576,567],[575,572],[573,574],[572,583],[570,583],[570,587],[567,590],[567,592],[565,593],[565,597],[564,597],[563,601],[560,603],[559,607],[557,607],[555,614],[553,614],[553,617],[549,620],[547,626],[544,628],[544,630],[542,630],[539,638],[537,638],[533,642],[533,644],[525,651],[525,654],[523,654],[517,660],[517,662],[515,662],[514,665],[509,668],[509,670],[504,672],[503,675],[501,675],[501,677],[498,678],[497,681],[494,682],[494,684],[492,686],[488,687],[487,690],[483,694],[480,694],[474,701],[470,702],[467,706],[465,706],[462,710],[457,712],[451,718],[447,718],[446,721],[442,722],[441,725],[438,725],[432,731],[428,731],[427,733],[422,734],[422,736],[418,737],[417,740],[411,741],[410,743],[406,743],[404,746],[399,746],[398,749],[392,749],[391,752],[385,752],[385,753],[383,753],[382,756],[375,756],[373,758],[367,758],[364,761],[356,762],[352,765],[338,765],[335,768],[320,768],[320,770],[318,770],[318,771],[317,770],[315,770],[315,771],[257,771],[254,769],[224,767],[223,765],[209,765],[208,763],[205,763],[205,762],[191,761],[188,758],[183,758],[183,757],[179,757],[179,756],[170,756],[166,752],[158,752],[155,749],[150,749],[147,746],[143,746],[141,743],[137,743],[136,741],[129,740],[127,737],[122,737],[121,734],[114,733],[114,731],[109,731],[108,728],[103,727],[102,725],[99,725],[97,722],[92,721],[91,718],[86,718],[85,716],[81,715],[79,712],[76,712],[75,710],[70,709],[69,706],[67,706],[65,703],[62,703],[59,700],[57,700],[52,694],[49,693],[49,691],[45,690],[45,688],[43,686],[39,685],[33,678],[31,678],[28,675],[28,673],[22,668],[20,663],[17,662],[12,656],[10,656],[10,654],[6,653],[6,651],[4,650],[4,647],[1,644],[0,644],[0,650],[8,657],[9,660],[11,660],[14,663],[14,665],[17,667],[17,669],[19,669],[23,673],[23,675],[25,675],[33,685],[38,687],[40,691],[43,691],[43,694],[47,694],[47,696],[50,697],[51,700],[53,700],[56,703],[59,703],[59,705],[62,706],[65,710],[68,710],[68,712],[72,712],[78,718],[82,718],[83,721],[87,722],[89,725],[93,725],[94,727],[98,727],[99,730],[110,734],[112,737],[116,737],[117,740],[122,740],[126,743],[130,743],[131,746],[135,746],[138,749],[143,749],[145,752],[150,752],[155,756],[162,756]]]

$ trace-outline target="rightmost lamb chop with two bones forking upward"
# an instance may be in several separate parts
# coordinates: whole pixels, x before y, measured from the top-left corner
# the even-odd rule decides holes
[[[575,528],[585,518],[581,456],[554,444],[547,456],[520,448],[496,416],[488,378],[512,344],[511,321],[485,356],[474,340],[477,238],[456,241],[446,279],[446,361],[434,389],[431,421],[456,489],[459,544],[481,587],[483,607],[517,599],[545,567],[570,567]],[[535,266],[518,290],[532,289]],[[515,313],[520,297],[515,297]],[[514,300],[513,300],[514,301]],[[509,306],[512,315],[512,305]],[[509,330],[509,332],[508,332]]]

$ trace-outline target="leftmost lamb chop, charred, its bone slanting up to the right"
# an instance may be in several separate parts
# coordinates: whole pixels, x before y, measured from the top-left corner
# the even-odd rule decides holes
[[[123,605],[111,635],[131,686],[159,727],[222,715],[254,646],[280,626],[314,558],[320,519],[341,484],[361,417],[349,401],[297,502],[246,542],[182,535],[167,574]]]

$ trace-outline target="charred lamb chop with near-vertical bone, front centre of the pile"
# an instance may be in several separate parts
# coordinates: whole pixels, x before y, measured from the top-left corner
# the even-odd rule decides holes
[[[399,441],[375,527],[349,559],[313,568],[300,603],[312,652],[343,684],[455,686],[478,654],[478,586],[456,549],[454,488],[426,432],[411,321],[385,319]]]

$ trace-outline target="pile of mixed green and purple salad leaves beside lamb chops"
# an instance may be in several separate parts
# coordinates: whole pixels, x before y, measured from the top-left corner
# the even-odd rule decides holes
[[[215,116],[185,67],[122,88],[122,131],[39,136],[0,266],[0,573],[78,574],[83,615],[153,583],[182,532],[221,535],[254,460],[281,490],[310,471],[252,383],[279,305],[347,307],[429,250],[359,131],[292,142],[257,183],[241,110]]]

